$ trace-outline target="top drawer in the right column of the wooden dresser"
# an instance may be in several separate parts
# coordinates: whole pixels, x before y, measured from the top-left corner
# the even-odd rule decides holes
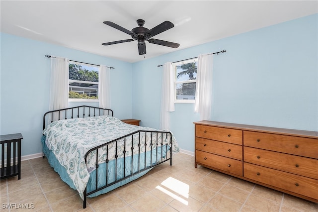
[[[244,131],[244,146],[318,159],[318,139]]]

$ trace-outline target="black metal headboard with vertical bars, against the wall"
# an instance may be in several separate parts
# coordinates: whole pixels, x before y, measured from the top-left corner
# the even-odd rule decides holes
[[[46,112],[43,115],[43,129],[45,129],[45,126],[46,126],[45,123],[49,121],[53,122],[60,119],[84,118],[84,117],[99,116],[99,115],[114,116],[114,112],[111,109],[95,107],[95,106],[75,106],[75,107],[51,110]]]

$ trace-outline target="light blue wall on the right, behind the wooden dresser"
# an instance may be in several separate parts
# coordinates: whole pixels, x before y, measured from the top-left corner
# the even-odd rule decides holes
[[[133,116],[159,127],[157,65],[215,55],[211,120],[318,131],[318,14],[133,64]],[[171,131],[194,152],[194,104],[175,104]]]

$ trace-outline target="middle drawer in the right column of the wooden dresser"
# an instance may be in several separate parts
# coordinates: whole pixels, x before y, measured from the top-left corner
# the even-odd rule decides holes
[[[318,180],[318,160],[296,155],[244,147],[244,162],[266,166]]]

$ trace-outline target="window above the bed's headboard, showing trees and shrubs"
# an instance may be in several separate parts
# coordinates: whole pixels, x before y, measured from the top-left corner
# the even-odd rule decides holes
[[[69,63],[69,101],[98,101],[98,66]]]

